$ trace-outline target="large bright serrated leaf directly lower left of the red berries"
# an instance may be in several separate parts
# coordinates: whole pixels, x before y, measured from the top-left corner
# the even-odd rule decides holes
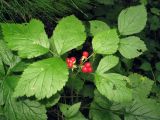
[[[48,58],[35,62],[24,70],[14,95],[49,98],[61,90],[67,80],[68,69],[65,62],[61,58]]]

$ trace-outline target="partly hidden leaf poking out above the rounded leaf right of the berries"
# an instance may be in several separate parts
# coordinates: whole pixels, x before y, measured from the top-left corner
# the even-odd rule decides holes
[[[90,33],[92,36],[95,36],[98,33],[110,29],[110,27],[105,22],[99,20],[92,20],[89,21],[89,23],[90,23]]]

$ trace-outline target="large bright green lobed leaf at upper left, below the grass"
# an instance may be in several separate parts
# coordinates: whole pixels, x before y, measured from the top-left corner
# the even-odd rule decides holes
[[[49,51],[44,25],[38,20],[29,24],[1,24],[4,40],[22,58],[33,58]],[[26,47],[27,46],[27,47]]]

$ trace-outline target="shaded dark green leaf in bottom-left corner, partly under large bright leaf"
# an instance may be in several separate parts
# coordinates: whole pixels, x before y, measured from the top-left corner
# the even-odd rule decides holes
[[[45,107],[36,101],[16,100],[13,97],[14,88],[19,77],[8,77],[4,80],[4,114],[7,120],[46,120]]]

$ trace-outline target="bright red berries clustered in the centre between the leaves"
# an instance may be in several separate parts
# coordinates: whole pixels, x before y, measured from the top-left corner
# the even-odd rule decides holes
[[[82,53],[82,58],[80,60],[80,68],[82,69],[83,73],[91,73],[91,72],[93,72],[91,63],[90,62],[84,63],[88,59],[88,56],[89,56],[89,53],[87,51],[84,51]],[[75,57],[67,58],[66,59],[66,63],[67,63],[68,68],[70,68],[72,70],[74,68],[76,68],[76,65],[75,65],[76,58]],[[84,63],[84,65],[83,65],[83,63]]]

